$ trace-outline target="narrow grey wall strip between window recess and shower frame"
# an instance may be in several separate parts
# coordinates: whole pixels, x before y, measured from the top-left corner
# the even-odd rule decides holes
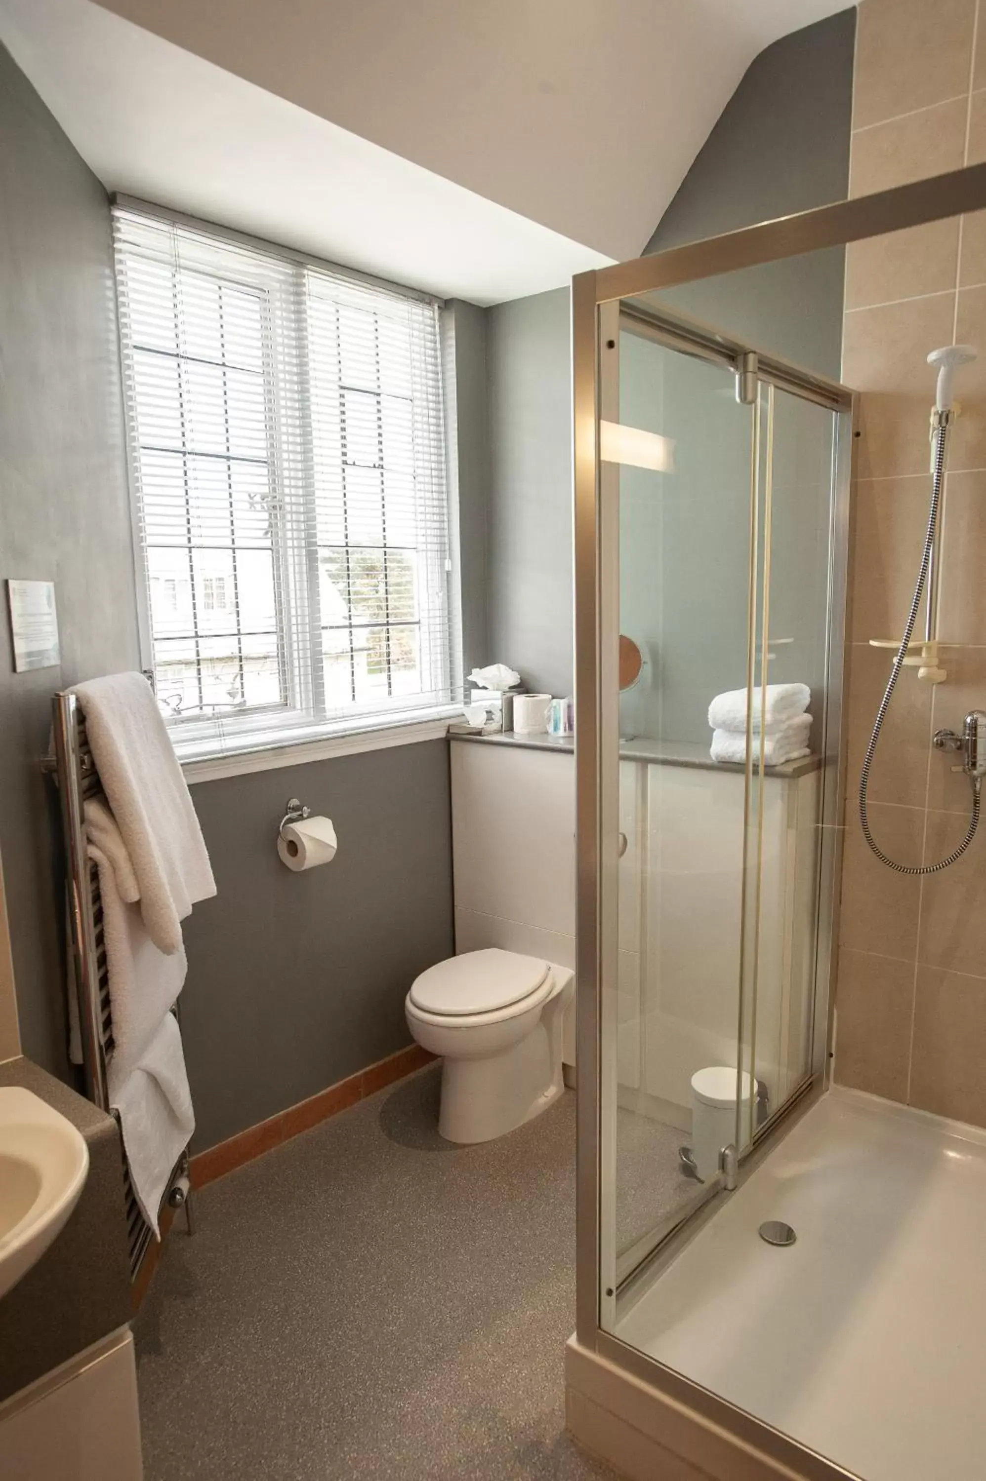
[[[572,692],[569,293],[488,311],[489,655]]]

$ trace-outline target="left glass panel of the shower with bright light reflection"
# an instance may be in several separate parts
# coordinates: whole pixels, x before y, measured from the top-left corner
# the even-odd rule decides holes
[[[618,392],[611,385],[603,407],[618,406],[620,422],[603,421],[600,434],[620,558],[603,1320],[614,1287],[719,1188],[719,1151],[735,1139],[746,706],[724,701],[721,761],[709,706],[746,684],[756,432],[756,409],[737,401],[727,364],[626,321],[618,347]]]

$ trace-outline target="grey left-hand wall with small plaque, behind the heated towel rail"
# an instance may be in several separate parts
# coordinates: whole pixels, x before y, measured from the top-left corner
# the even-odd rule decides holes
[[[67,1077],[50,698],[138,666],[107,197],[0,47],[0,576],[53,581],[61,666],[0,638],[0,852],[24,1053]]]

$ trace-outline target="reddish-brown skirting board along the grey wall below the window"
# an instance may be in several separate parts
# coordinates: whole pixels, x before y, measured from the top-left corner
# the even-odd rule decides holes
[[[415,1069],[421,1069],[433,1059],[434,1054],[430,1054],[427,1049],[421,1049],[420,1044],[408,1044],[406,1049],[399,1049],[396,1054],[388,1054],[387,1059],[380,1059],[375,1065],[368,1065],[366,1069],[357,1071],[347,1080],[340,1080],[337,1084],[328,1086],[326,1090],[320,1090],[316,1096],[300,1100],[298,1105],[288,1106],[286,1111],[279,1111],[277,1115],[268,1117],[267,1121],[248,1126],[245,1131],[237,1131],[236,1136],[219,1142],[218,1146],[211,1146],[205,1152],[196,1152],[190,1167],[193,1189],[205,1188],[206,1183],[214,1183],[216,1177],[225,1177],[227,1173],[234,1171],[237,1167],[252,1163],[255,1157],[262,1157],[264,1152],[280,1146],[282,1142],[289,1142],[292,1136],[311,1130],[313,1126],[328,1121],[329,1117],[338,1115],[340,1111],[347,1111],[359,1100],[365,1100],[366,1096],[372,1096],[377,1090],[384,1090],[387,1086],[394,1084],[396,1080],[403,1080],[405,1075],[414,1074]],[[173,1219],[173,1208],[162,1211],[162,1243],[168,1238],[168,1231]],[[133,1281],[135,1311],[147,1294],[147,1288],[157,1269],[160,1251],[162,1244],[154,1241]]]

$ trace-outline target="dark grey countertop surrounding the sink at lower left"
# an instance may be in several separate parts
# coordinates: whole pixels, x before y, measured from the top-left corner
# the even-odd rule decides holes
[[[37,1265],[0,1297],[0,1401],[130,1320],[120,1133],[111,1115],[22,1056],[0,1086],[24,1086],[76,1126],[89,1176],[71,1217]],[[0,1466],[1,1469],[1,1466]]]

